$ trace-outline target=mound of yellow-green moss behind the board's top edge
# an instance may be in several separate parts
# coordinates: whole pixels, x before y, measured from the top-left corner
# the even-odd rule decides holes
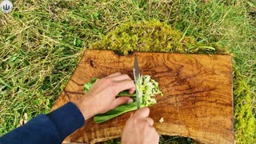
[[[218,46],[204,46],[194,38],[173,30],[158,20],[128,22],[106,34],[102,41],[90,45],[90,49],[115,50],[123,54],[133,51],[172,53],[224,53]]]

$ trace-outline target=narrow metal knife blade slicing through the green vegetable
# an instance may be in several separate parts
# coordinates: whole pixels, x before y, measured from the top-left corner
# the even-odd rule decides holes
[[[141,108],[141,95],[138,91],[138,78],[140,77],[139,68],[138,68],[138,58],[137,55],[134,56],[134,82],[136,88],[136,102],[137,102],[137,110]]]

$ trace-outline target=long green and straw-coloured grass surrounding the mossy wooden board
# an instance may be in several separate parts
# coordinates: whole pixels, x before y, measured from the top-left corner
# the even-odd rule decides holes
[[[21,0],[13,4],[10,14],[0,13],[0,135],[26,121],[24,115],[30,119],[50,110],[90,43],[122,23],[152,18],[206,46],[226,47],[234,54],[242,82],[250,86],[246,94],[256,114],[254,1]]]

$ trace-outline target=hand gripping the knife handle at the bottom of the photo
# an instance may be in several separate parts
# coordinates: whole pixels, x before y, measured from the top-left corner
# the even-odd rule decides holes
[[[157,144],[158,132],[154,129],[154,121],[149,118],[148,107],[137,110],[126,122],[122,131],[122,144]]]

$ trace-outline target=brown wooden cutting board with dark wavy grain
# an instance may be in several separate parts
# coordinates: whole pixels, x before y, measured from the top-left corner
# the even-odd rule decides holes
[[[234,143],[232,66],[230,55],[136,53],[140,72],[159,82],[164,96],[150,106],[159,134],[180,135],[203,143]],[[84,95],[91,78],[115,72],[133,78],[134,55],[86,50],[52,110]],[[101,142],[118,138],[130,113],[101,124],[90,118],[65,142]],[[160,123],[159,119],[164,122]]]

